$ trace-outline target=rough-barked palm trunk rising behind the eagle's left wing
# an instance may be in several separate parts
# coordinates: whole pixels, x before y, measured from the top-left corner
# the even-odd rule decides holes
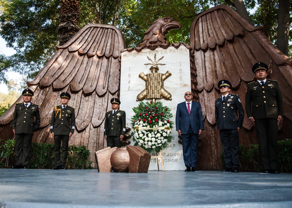
[[[59,45],[64,45],[79,31],[79,9],[79,0],[61,0],[57,28]]]

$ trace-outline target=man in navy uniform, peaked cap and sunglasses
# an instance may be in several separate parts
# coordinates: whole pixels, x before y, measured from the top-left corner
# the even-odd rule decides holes
[[[231,83],[220,80],[218,88],[221,96],[215,100],[216,126],[224,149],[225,169],[222,172],[239,172],[238,166],[238,131],[243,124],[244,110],[238,95],[229,94]],[[238,114],[237,114],[238,112]]]

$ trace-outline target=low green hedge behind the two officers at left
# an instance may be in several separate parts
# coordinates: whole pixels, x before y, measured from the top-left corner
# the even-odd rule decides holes
[[[62,147],[61,147],[62,149]],[[85,146],[72,145],[68,148],[68,169],[91,169],[92,161],[88,161],[90,152]],[[15,140],[8,139],[0,146],[0,168],[15,163]],[[11,161],[11,160],[12,161]],[[10,162],[9,162],[10,160]],[[4,163],[5,162],[5,163]],[[54,145],[32,142],[28,168],[51,169],[54,165]]]

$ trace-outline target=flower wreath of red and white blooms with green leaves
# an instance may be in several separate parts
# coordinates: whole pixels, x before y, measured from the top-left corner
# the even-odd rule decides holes
[[[140,102],[138,107],[133,107],[135,115],[131,119],[131,136],[135,142],[134,146],[140,146],[150,154],[152,151],[160,152],[171,143],[171,129],[173,115],[167,106],[161,102]]]

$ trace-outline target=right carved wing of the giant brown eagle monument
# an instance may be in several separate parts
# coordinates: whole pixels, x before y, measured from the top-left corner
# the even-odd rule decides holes
[[[192,23],[190,33],[192,90],[201,103],[205,131],[201,140],[205,147],[219,158],[221,148],[215,125],[215,99],[219,97],[218,81],[227,79],[232,83],[232,94],[238,94],[245,108],[246,85],[254,79],[251,71],[258,61],[269,66],[268,79],[277,80],[284,99],[284,119],[281,128],[291,125],[292,120],[292,62],[270,40],[262,27],[253,27],[235,10],[219,5],[201,13]],[[240,144],[256,143],[253,125],[244,115]],[[285,135],[289,132],[285,128]],[[281,135],[281,134],[279,134]],[[282,135],[284,137],[284,135]],[[281,137],[280,137],[281,138]],[[209,146],[210,148],[206,148]],[[219,160],[209,161],[208,167],[218,166]],[[205,161],[206,162],[206,161]],[[204,167],[204,165],[202,165]]]

